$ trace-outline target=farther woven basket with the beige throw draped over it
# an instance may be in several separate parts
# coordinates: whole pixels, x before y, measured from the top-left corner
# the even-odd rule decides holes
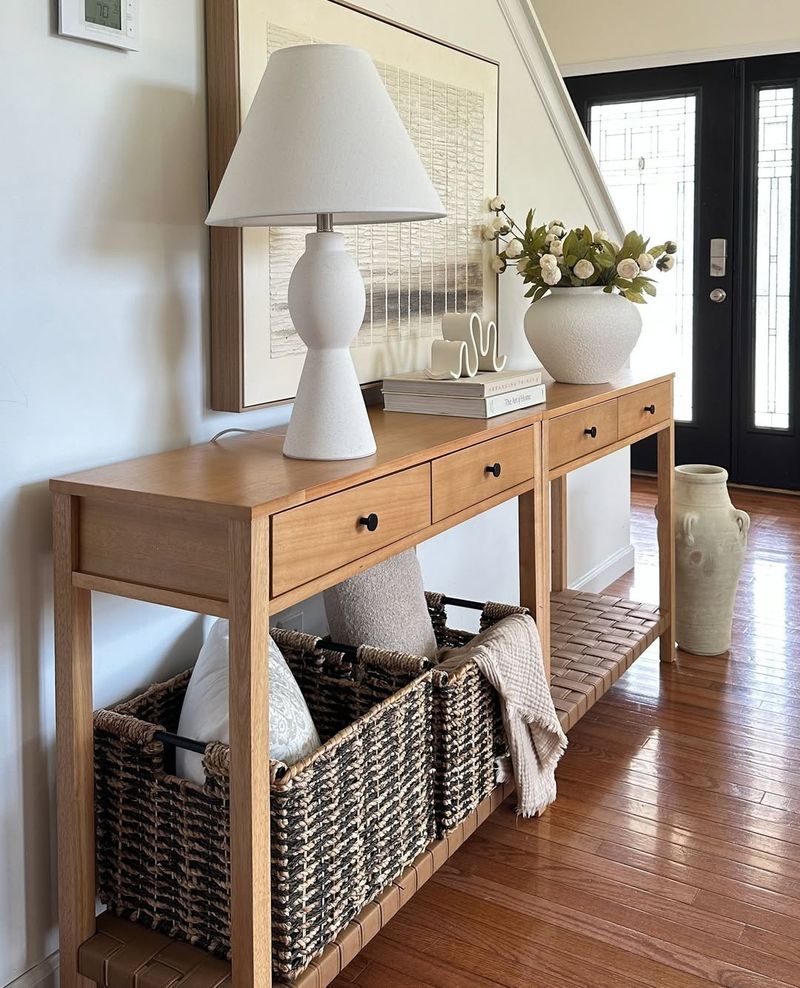
[[[428,610],[440,648],[466,645],[474,632],[447,624],[447,598],[428,593]],[[509,614],[528,614],[524,607],[483,604],[480,630]],[[436,750],[436,836],[456,827],[497,785],[497,759],[508,754],[500,703],[477,665],[469,662],[456,672],[433,672]]]

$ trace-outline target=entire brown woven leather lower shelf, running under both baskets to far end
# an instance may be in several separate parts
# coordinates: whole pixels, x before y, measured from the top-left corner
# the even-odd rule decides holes
[[[600,699],[666,627],[657,607],[565,590],[551,596],[550,692],[565,730]],[[369,903],[292,983],[325,988],[513,791],[498,786]],[[178,940],[104,913],[80,949],[79,969],[100,988],[231,988],[230,965]]]

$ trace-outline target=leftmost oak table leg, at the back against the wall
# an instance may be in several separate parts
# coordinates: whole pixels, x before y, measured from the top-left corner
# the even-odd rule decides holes
[[[78,948],[95,932],[91,592],[72,585],[80,501],[53,495],[61,988],[89,988]]]

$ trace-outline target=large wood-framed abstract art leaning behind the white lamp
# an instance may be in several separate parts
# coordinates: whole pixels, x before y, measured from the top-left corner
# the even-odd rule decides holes
[[[445,219],[425,223],[339,228],[367,289],[351,351],[359,380],[424,366],[445,312],[495,318],[497,279],[479,228],[497,188],[497,63],[340,0],[208,0],[207,29],[212,195],[269,55],[326,42],[372,55],[447,209]],[[287,288],[306,232],[211,231],[214,408],[295,396],[305,347]]]

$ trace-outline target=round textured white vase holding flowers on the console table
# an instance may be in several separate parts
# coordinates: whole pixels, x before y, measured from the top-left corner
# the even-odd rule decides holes
[[[525,313],[525,335],[564,384],[604,384],[627,363],[642,330],[638,307],[602,288],[551,288]]]

